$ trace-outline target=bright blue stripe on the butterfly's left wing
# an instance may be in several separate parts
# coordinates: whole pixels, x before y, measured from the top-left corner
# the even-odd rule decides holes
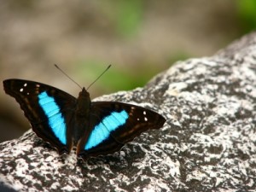
[[[67,144],[66,138],[66,124],[65,120],[61,115],[60,108],[55,102],[55,98],[48,96],[46,91],[38,95],[39,105],[43,108],[45,115],[49,121],[49,127],[54,132],[61,143]]]

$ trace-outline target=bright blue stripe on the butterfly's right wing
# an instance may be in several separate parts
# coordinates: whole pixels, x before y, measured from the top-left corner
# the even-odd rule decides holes
[[[110,136],[111,131],[115,131],[119,126],[124,125],[128,118],[129,114],[123,110],[121,112],[113,112],[102,119],[102,122],[96,125],[91,131],[84,149],[89,150],[102,143]]]

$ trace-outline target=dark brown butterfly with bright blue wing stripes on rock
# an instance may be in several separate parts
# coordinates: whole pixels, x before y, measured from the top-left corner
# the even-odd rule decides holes
[[[3,88],[15,97],[32,130],[59,154],[73,148],[79,158],[111,154],[143,131],[160,129],[166,119],[125,102],[91,102],[82,88],[78,98],[48,84],[7,79]]]

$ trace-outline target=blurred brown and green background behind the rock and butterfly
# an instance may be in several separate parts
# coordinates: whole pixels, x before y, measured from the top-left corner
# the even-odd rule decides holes
[[[91,97],[143,86],[175,61],[211,56],[256,26],[255,0],[2,1],[0,77],[31,79]],[[0,91],[0,143],[30,125]]]

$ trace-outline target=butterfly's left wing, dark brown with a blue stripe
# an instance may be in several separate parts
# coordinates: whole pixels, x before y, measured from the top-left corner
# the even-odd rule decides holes
[[[38,137],[57,148],[60,154],[70,151],[72,136],[67,137],[67,125],[75,108],[73,96],[47,84],[21,79],[5,80],[3,87],[20,103]]]

